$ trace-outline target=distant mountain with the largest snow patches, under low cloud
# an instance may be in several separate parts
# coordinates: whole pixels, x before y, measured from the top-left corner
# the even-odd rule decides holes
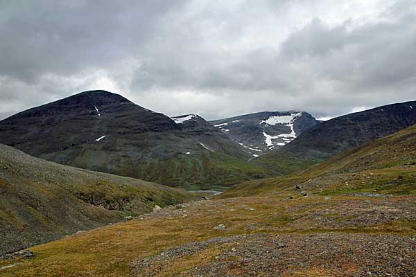
[[[258,157],[293,141],[319,121],[305,111],[263,111],[210,123]]]

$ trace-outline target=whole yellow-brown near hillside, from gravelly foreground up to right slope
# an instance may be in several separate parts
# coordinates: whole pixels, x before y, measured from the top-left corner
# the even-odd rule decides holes
[[[250,181],[217,199],[31,247],[33,257],[0,258],[0,271],[6,277],[415,276],[415,139],[413,125],[301,175]]]

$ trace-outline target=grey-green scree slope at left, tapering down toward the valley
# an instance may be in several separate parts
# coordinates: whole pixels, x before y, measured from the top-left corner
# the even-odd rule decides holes
[[[192,198],[185,190],[62,166],[0,144],[0,255]]]

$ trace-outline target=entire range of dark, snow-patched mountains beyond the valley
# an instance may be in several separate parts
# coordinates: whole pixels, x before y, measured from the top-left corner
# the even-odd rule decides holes
[[[224,190],[286,175],[416,123],[416,102],[320,122],[264,111],[172,118],[108,91],[85,91],[0,121],[0,143],[68,166],[168,186]]]

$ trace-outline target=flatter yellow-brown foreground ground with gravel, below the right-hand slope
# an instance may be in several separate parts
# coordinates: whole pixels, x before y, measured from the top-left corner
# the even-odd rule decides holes
[[[170,206],[0,261],[1,276],[416,276],[416,197]]]

